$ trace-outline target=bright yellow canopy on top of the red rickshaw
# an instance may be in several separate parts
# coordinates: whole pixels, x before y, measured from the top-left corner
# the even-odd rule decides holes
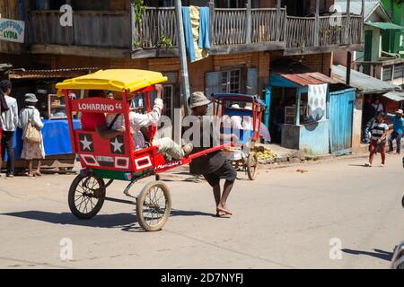
[[[161,73],[145,70],[100,70],[93,74],[57,83],[60,90],[109,90],[138,91],[148,86],[166,82],[168,79]]]

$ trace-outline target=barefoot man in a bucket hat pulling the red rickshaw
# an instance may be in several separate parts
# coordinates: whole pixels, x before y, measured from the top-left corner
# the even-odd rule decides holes
[[[206,149],[215,146],[213,133],[215,129],[211,130],[209,145],[206,146],[206,128],[212,128],[212,118],[206,117],[208,105],[210,101],[207,100],[203,92],[197,91],[192,93],[189,98],[189,109],[192,110],[192,116],[198,117],[200,123],[200,143],[194,143],[194,150],[192,152],[202,152]],[[205,133],[204,133],[205,132]],[[230,138],[234,135],[228,135]],[[226,140],[225,135],[216,136],[221,140]],[[219,143],[217,143],[219,144]],[[201,157],[194,159],[189,165],[190,173],[201,174],[206,178],[206,181],[211,187],[215,196],[216,216],[232,215],[226,207],[226,201],[230,195],[234,181],[237,178],[237,172],[229,161],[227,161],[224,153],[221,151],[211,152]],[[221,194],[220,179],[225,179],[223,194]]]

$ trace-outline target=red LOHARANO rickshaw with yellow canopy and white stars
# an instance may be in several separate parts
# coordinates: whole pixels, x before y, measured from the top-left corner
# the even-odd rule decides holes
[[[147,231],[161,230],[171,212],[169,188],[159,180],[159,174],[188,164],[193,159],[209,152],[222,150],[221,144],[204,152],[190,154],[180,161],[166,161],[157,154],[153,145],[155,126],[149,127],[149,144],[141,150],[134,149],[129,127],[129,100],[145,95],[145,108],[151,111],[151,91],[154,85],[167,81],[160,73],[143,70],[101,70],[57,84],[66,100],[70,136],[73,152],[78,155],[83,170],[73,181],[68,204],[79,219],[91,219],[100,212],[104,201],[136,204],[136,216],[140,226]],[[116,93],[115,99],[84,98],[70,99],[69,91],[107,90]],[[73,113],[121,114],[125,117],[125,133],[111,140],[101,138],[96,131],[75,129]],[[155,176],[139,196],[130,196],[129,189],[141,178]],[[105,182],[105,180],[108,180]],[[124,180],[128,185],[125,195],[132,200],[121,200],[106,196],[107,188],[114,180]],[[134,199],[134,200],[133,200]]]

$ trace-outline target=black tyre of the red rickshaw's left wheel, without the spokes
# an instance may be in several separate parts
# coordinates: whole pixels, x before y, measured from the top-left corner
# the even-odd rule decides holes
[[[80,190],[78,190],[80,184],[82,184],[81,189],[83,190],[83,184],[87,184],[89,182],[89,180],[91,180],[91,178],[93,178],[99,188],[97,188],[97,193],[99,193],[99,197],[90,197],[90,196],[82,196],[84,197],[83,200],[86,200],[85,198],[87,198],[87,202],[85,203],[85,211],[86,213],[83,213],[82,211],[80,211],[80,209],[76,206],[76,201],[77,201],[77,205],[83,204],[83,200],[80,202],[80,198],[79,197],[77,199],[75,199],[75,197],[77,196],[77,193],[80,193]],[[88,191],[95,191],[92,190],[92,187],[86,187],[88,189]],[[70,211],[73,213],[73,215],[75,215],[75,217],[77,217],[78,219],[91,219],[92,217],[94,217],[95,215],[97,215],[97,213],[100,212],[102,204],[104,204],[104,200],[105,200],[105,193],[106,193],[106,189],[105,189],[105,184],[104,184],[104,180],[102,178],[96,178],[93,176],[82,176],[81,174],[79,174],[75,180],[73,180],[72,185],[70,186],[69,189],[69,195],[68,195],[68,203],[69,203],[69,208]],[[83,194],[83,193],[82,193]],[[88,198],[90,198],[90,200],[88,200]],[[93,204],[92,207],[92,200],[96,200],[96,204]],[[90,212],[87,212],[87,204],[90,204],[91,210]],[[80,203],[80,204],[78,204]]]

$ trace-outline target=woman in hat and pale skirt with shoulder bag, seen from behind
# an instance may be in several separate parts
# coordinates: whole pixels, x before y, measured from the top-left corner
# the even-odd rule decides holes
[[[43,123],[40,120],[40,111],[35,108],[38,102],[37,97],[32,93],[25,95],[25,108],[20,111],[20,120],[18,126],[23,129],[22,140],[22,154],[21,157],[27,160],[28,177],[41,176],[40,161],[45,159],[45,149],[43,146],[43,138],[40,130],[43,128]],[[38,168],[32,172],[32,161],[38,161]]]

